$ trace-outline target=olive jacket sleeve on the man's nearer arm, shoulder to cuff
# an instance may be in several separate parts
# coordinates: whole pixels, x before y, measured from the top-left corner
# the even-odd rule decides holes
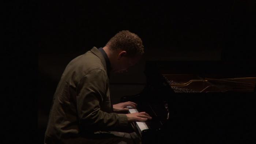
[[[82,128],[85,130],[114,130],[128,125],[125,114],[106,113],[101,110],[101,103],[106,97],[106,73],[95,69],[87,73],[77,86],[77,111]]]

